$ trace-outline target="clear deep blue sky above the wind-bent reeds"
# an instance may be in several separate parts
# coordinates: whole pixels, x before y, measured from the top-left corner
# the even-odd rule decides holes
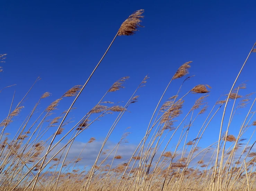
[[[184,62],[193,61],[189,71],[196,76],[185,85],[183,93],[197,84],[209,84],[212,106],[230,89],[256,40],[255,8],[255,1],[2,0],[0,53],[8,53],[8,57],[1,64],[4,72],[0,74],[0,86],[17,86],[2,93],[0,99],[5,101],[1,101],[1,107],[5,109],[1,116],[8,112],[14,90],[17,104],[38,76],[42,80],[28,96],[23,117],[42,93],[52,93],[42,103],[44,108],[74,85],[83,84],[122,22],[133,11],[145,9],[145,28],[134,36],[117,37],[75,105],[79,120],[117,79],[130,76],[124,90],[107,97],[109,101],[126,101],[149,74],[147,86],[138,93],[140,101],[131,106],[132,112],[120,122],[113,137],[118,140],[120,133],[131,126],[130,141],[136,143],[166,85]],[[248,92],[255,91],[255,56],[239,78],[239,83],[250,80]],[[165,99],[176,93],[181,82],[172,84]],[[190,96],[188,101],[194,102],[197,97]],[[60,108],[68,106],[60,104]],[[111,120],[102,119],[86,137],[104,137],[110,125]],[[219,123],[216,126],[219,129]],[[217,136],[218,131],[212,134]]]

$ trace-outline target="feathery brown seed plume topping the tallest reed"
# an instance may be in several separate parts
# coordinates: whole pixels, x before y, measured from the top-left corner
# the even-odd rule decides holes
[[[139,27],[143,27],[140,25],[141,19],[144,18],[144,16],[142,16],[142,13],[144,12],[143,9],[140,9],[138,11],[135,11],[134,13],[132,13],[128,19],[126,19],[120,29],[118,30],[118,36],[122,36],[122,35],[133,35],[135,34],[136,31],[138,31],[137,29]]]

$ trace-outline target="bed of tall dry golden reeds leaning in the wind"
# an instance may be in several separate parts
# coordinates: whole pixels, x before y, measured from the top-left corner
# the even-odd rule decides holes
[[[256,190],[256,152],[253,152],[256,142],[253,140],[256,125],[253,108],[256,98],[253,99],[253,93],[242,96],[246,84],[236,84],[247,60],[256,52],[256,43],[249,51],[228,94],[222,96],[222,99],[210,109],[207,103],[211,89],[209,85],[199,84],[182,94],[183,85],[193,77],[188,76],[191,61],[182,64],[167,83],[166,89],[153,109],[149,123],[145,124],[144,136],[128,159],[118,155],[121,145],[128,143],[127,130],[112,150],[106,150],[106,143],[130,105],[138,101],[138,92],[147,83],[148,76],[142,79],[126,102],[113,103],[105,99],[109,93],[124,88],[124,82],[129,77],[117,80],[93,108],[88,108],[88,112],[78,122],[74,123],[71,119],[67,119],[68,114],[75,109],[74,103],[116,37],[134,34],[138,27],[141,27],[142,13],[143,10],[136,11],[123,22],[83,86],[74,86],[45,109],[41,109],[40,113],[38,105],[43,99],[51,96],[49,92],[44,93],[19,126],[17,126],[19,121],[17,117],[24,108],[24,100],[40,79],[36,79],[17,106],[14,105],[15,96],[13,96],[9,112],[6,116],[1,116],[0,123],[1,191]],[[0,54],[1,62],[5,58],[6,54]],[[174,95],[166,95],[171,84],[180,78],[184,80]],[[198,94],[200,97],[183,113],[185,98],[189,94]],[[169,99],[164,102],[166,96]],[[53,111],[67,97],[74,98],[71,105],[67,105],[67,110],[51,119],[56,115]],[[228,106],[230,109],[226,110]],[[245,118],[241,121],[235,137],[228,132],[239,109],[245,112]],[[86,152],[89,144],[96,141],[96,135],[92,135],[76,158],[67,160],[74,140],[100,118],[106,118],[112,113],[116,113],[116,118],[96,153],[95,162],[83,167],[83,159],[80,156]],[[203,148],[199,147],[200,141],[207,138],[206,129],[213,121],[219,120],[217,119],[219,113],[222,113],[220,127],[215,129],[219,131],[219,137],[215,142],[204,145]],[[205,116],[205,119],[201,118],[201,115]],[[224,118],[225,116],[228,118]],[[17,131],[14,135],[10,135],[7,132],[8,128],[16,119],[15,131]],[[193,127],[195,123],[201,124],[197,132]],[[67,132],[64,131],[65,128]],[[253,133],[248,139],[244,138],[243,135],[250,129],[254,129]],[[191,131],[196,134],[195,137],[191,137]]]

